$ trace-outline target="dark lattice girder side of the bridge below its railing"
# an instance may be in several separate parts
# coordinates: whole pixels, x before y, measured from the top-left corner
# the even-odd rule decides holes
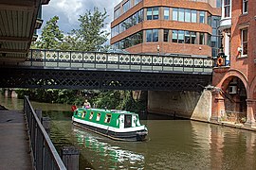
[[[202,91],[211,75],[0,68],[0,88]]]

